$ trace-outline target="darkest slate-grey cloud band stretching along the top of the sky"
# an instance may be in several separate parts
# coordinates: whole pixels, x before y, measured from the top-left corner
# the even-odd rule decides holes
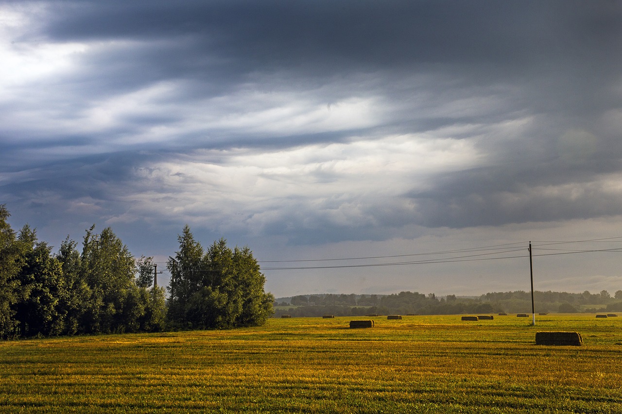
[[[63,2],[52,14],[41,30],[54,41],[150,42],[95,61],[121,80],[236,83],[293,71],[323,83],[358,71],[440,70],[486,85],[557,75],[586,108],[593,99],[583,89],[597,93],[600,78],[617,75],[612,53],[622,42],[616,2]]]

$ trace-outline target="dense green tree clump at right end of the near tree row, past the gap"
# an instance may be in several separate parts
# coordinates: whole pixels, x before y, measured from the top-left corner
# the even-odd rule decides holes
[[[179,251],[169,257],[169,319],[193,328],[233,328],[265,323],[274,297],[248,247],[230,249],[225,239],[207,252],[189,226],[178,236]]]

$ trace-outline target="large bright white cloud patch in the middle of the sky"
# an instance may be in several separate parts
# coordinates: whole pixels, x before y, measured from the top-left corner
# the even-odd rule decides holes
[[[157,208],[193,223],[211,217],[220,229],[254,233],[279,220],[310,228],[318,216],[339,226],[373,226],[376,206],[399,203],[413,186],[425,188],[430,174],[481,161],[468,140],[412,135],[261,153],[201,151],[138,170],[139,187],[149,191],[132,195],[132,209]]]

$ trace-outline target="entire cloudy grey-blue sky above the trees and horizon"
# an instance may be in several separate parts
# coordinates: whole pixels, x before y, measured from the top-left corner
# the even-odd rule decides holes
[[[529,241],[613,295],[621,50],[612,0],[2,0],[0,204],[161,285],[188,224],[276,297],[529,290]]]

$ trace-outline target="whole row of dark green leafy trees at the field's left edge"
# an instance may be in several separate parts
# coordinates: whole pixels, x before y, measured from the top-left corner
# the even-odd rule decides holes
[[[165,290],[152,257],[136,259],[111,228],[67,237],[57,252],[25,224],[14,231],[0,205],[0,338],[259,325],[274,297],[248,247],[225,239],[203,251],[185,226],[169,257]]]

